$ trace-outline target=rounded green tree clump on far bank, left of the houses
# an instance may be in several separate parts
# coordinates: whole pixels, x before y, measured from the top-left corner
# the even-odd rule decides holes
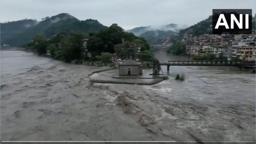
[[[173,55],[186,55],[186,45],[181,41],[174,42],[169,48],[167,48],[167,53]]]

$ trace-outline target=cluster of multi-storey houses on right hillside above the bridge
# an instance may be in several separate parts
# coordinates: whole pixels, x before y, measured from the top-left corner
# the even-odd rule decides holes
[[[185,34],[182,42],[187,45],[188,56],[213,54],[228,60],[239,58],[255,62],[255,31],[252,34],[202,34],[198,37]]]

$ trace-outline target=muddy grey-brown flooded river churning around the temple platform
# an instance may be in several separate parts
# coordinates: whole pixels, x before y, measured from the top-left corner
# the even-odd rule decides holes
[[[249,71],[173,66],[168,80],[152,86],[91,84],[87,75],[106,68],[23,51],[1,51],[0,60],[1,141],[255,144],[256,77]],[[185,81],[174,80],[177,74]]]

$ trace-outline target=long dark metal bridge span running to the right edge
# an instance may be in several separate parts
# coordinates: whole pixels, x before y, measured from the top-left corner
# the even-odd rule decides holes
[[[255,62],[242,61],[168,61],[160,65],[167,66],[255,66]]]

